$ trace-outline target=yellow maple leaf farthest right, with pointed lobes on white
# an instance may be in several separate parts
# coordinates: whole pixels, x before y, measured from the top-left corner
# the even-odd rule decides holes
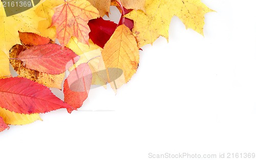
[[[203,35],[204,15],[211,11],[200,0],[147,0],[145,12],[132,11],[125,17],[134,20],[133,34],[141,47],[153,44],[159,36],[168,40],[169,24],[173,16],[178,16],[186,28]]]

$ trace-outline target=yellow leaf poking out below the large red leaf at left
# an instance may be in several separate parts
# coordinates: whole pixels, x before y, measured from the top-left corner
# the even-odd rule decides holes
[[[40,121],[42,120],[39,117],[39,114],[31,114],[31,115],[18,114],[1,107],[0,107],[0,117],[3,118],[6,124],[12,124],[12,125],[24,125],[24,124],[32,123],[36,120],[40,120]]]

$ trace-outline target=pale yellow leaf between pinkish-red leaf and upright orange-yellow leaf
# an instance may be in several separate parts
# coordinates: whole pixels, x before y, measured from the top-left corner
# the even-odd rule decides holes
[[[105,66],[102,65],[104,64],[101,56],[102,49],[94,44],[91,40],[89,40],[89,44],[90,47],[87,44],[78,42],[77,38],[75,37],[70,39],[67,47],[72,49],[78,56],[80,56],[80,59],[69,70],[73,70],[82,63],[88,63],[93,75],[92,84],[103,86],[106,84],[106,78],[100,74],[101,72],[99,72],[105,70]]]

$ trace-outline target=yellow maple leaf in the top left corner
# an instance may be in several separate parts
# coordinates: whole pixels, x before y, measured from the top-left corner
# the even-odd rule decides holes
[[[34,8],[12,16],[6,16],[3,2],[0,2],[0,76],[10,75],[8,60],[9,49],[15,44],[20,44],[18,31],[40,34],[38,22],[41,20],[43,20],[43,18],[39,17],[34,12]]]

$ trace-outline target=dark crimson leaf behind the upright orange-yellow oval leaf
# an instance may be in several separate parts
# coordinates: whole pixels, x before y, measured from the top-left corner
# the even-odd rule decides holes
[[[101,48],[104,47],[117,28],[116,23],[104,20],[101,17],[90,20],[88,25],[91,29],[89,33],[90,39]]]

